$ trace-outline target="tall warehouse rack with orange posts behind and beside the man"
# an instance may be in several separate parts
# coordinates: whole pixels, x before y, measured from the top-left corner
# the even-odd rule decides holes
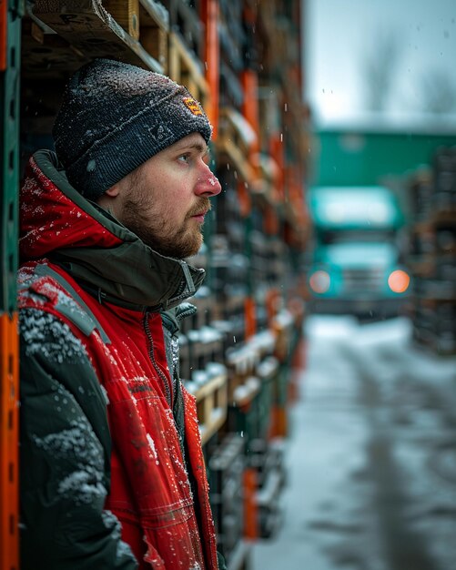
[[[208,280],[191,300],[197,315],[184,321],[180,365],[198,402],[220,544],[229,570],[248,570],[248,539],[272,534],[279,522],[290,368],[303,319],[302,311],[292,310],[301,306],[295,260],[306,247],[309,154],[299,3],[66,0],[63,9],[57,0],[0,0],[0,18],[2,568],[19,568],[19,176],[25,158],[51,144],[67,78],[90,59],[107,56],[187,85],[214,127],[211,150],[223,193],[195,260]]]

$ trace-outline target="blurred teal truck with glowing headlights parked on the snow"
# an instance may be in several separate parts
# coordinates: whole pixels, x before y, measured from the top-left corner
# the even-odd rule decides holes
[[[400,263],[404,218],[395,195],[380,186],[315,187],[309,190],[309,214],[309,311],[400,314],[410,276]]]

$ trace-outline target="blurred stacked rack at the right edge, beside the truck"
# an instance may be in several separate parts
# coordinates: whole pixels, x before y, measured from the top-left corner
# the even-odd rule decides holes
[[[408,181],[413,339],[456,353],[456,148],[437,148]]]

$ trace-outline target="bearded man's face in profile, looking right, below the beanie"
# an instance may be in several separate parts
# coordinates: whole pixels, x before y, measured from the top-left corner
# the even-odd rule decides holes
[[[117,219],[163,255],[195,255],[209,198],[221,190],[207,161],[208,147],[199,133],[149,158],[117,184]]]

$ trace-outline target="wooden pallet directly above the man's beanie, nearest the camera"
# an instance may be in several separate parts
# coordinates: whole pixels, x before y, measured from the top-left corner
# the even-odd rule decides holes
[[[166,11],[148,0],[36,0],[24,18],[25,76],[67,76],[95,57],[164,73]]]

